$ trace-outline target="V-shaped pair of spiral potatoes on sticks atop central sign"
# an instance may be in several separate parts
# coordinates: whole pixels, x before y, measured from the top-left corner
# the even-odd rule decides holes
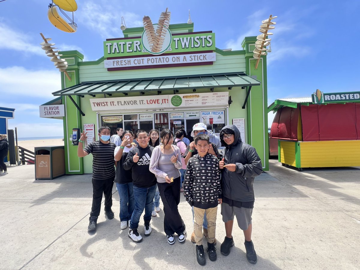
[[[162,50],[162,45],[164,44],[165,36],[169,28],[170,12],[167,12],[166,9],[165,12],[161,13],[156,31],[149,16],[144,16],[143,24],[148,42],[152,45],[150,50],[153,53],[159,53]]]

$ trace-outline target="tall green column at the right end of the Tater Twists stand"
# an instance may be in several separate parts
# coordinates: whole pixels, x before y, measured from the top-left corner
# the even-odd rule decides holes
[[[256,59],[253,58],[256,37],[245,37],[242,47],[246,51],[246,74],[256,76],[261,81],[260,86],[252,86],[247,109],[247,138],[248,144],[255,147],[261,158],[265,171],[269,170],[269,135],[267,132],[267,72],[266,56],[262,56],[255,69]]]

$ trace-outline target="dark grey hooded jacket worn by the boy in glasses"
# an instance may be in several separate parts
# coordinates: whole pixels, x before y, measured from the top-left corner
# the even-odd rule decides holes
[[[222,169],[222,197],[239,202],[252,202],[255,200],[253,188],[255,176],[262,173],[260,157],[255,148],[243,143],[240,131],[235,125],[225,126],[221,131],[224,129],[233,130],[235,133],[234,142],[230,145],[227,145],[222,138],[220,140],[226,145],[225,165],[235,164],[236,170],[231,172],[226,168]]]

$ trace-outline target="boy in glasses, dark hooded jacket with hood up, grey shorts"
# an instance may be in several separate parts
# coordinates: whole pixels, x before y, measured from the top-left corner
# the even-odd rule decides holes
[[[255,176],[262,173],[261,160],[255,148],[241,140],[240,131],[234,125],[221,129],[220,140],[226,145],[224,158],[219,162],[222,181],[221,215],[226,232],[220,251],[227,256],[230,247],[234,246],[231,233],[235,215],[239,228],[244,232],[246,258],[250,263],[256,264],[257,256],[251,241],[251,215],[255,201],[253,183]]]

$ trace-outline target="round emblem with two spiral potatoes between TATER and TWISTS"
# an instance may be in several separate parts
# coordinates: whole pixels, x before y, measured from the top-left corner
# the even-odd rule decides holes
[[[153,24],[149,16],[143,18],[144,32],[141,43],[150,54],[158,55],[165,52],[171,44],[170,12],[162,12],[157,24]]]

